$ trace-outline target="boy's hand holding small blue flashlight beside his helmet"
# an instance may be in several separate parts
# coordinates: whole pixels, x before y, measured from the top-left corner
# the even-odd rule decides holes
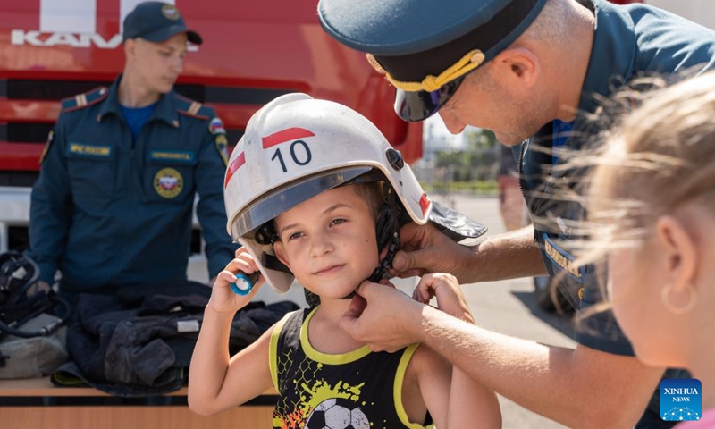
[[[218,273],[214,289],[211,292],[211,299],[208,300],[208,305],[212,310],[218,313],[236,313],[240,308],[246,307],[248,302],[253,299],[256,292],[264,283],[263,275],[258,277],[253,289],[247,295],[239,295],[231,290],[231,282],[236,282],[236,273],[244,272],[247,274],[258,271],[256,261],[248,253],[245,248],[236,250],[236,258],[233,259],[221,273]]]

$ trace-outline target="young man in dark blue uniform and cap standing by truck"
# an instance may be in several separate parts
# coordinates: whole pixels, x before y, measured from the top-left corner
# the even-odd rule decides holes
[[[209,278],[235,249],[223,226],[223,124],[172,89],[187,40],[201,37],[172,4],[147,2],[123,38],[112,86],[63,100],[32,189],[29,253],[42,282],[62,273],[65,296],[186,280],[197,193]]]

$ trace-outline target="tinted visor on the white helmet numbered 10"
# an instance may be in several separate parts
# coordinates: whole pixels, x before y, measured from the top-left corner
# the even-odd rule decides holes
[[[274,189],[236,215],[231,224],[231,237],[233,240],[238,240],[239,237],[247,236],[251,231],[255,231],[264,223],[272,221],[276,216],[290,210],[292,207],[298,206],[325,190],[340,186],[346,181],[351,181],[372,169],[373,167],[371,166],[360,165],[320,172],[303,180],[287,183],[279,189]],[[253,239],[253,237],[250,238]]]

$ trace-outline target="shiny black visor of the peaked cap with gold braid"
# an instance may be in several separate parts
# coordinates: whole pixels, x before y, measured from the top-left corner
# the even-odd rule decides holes
[[[407,122],[424,121],[450,101],[465,76],[450,80],[432,92],[408,92],[398,88],[395,94],[395,113]]]

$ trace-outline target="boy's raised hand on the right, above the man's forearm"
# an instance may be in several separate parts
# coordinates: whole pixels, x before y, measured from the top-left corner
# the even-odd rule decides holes
[[[467,306],[467,299],[455,276],[445,273],[425,274],[412,292],[412,298],[423,304],[429,304],[434,297],[437,298],[437,307],[443,312],[470,324],[475,323],[474,316]]]

